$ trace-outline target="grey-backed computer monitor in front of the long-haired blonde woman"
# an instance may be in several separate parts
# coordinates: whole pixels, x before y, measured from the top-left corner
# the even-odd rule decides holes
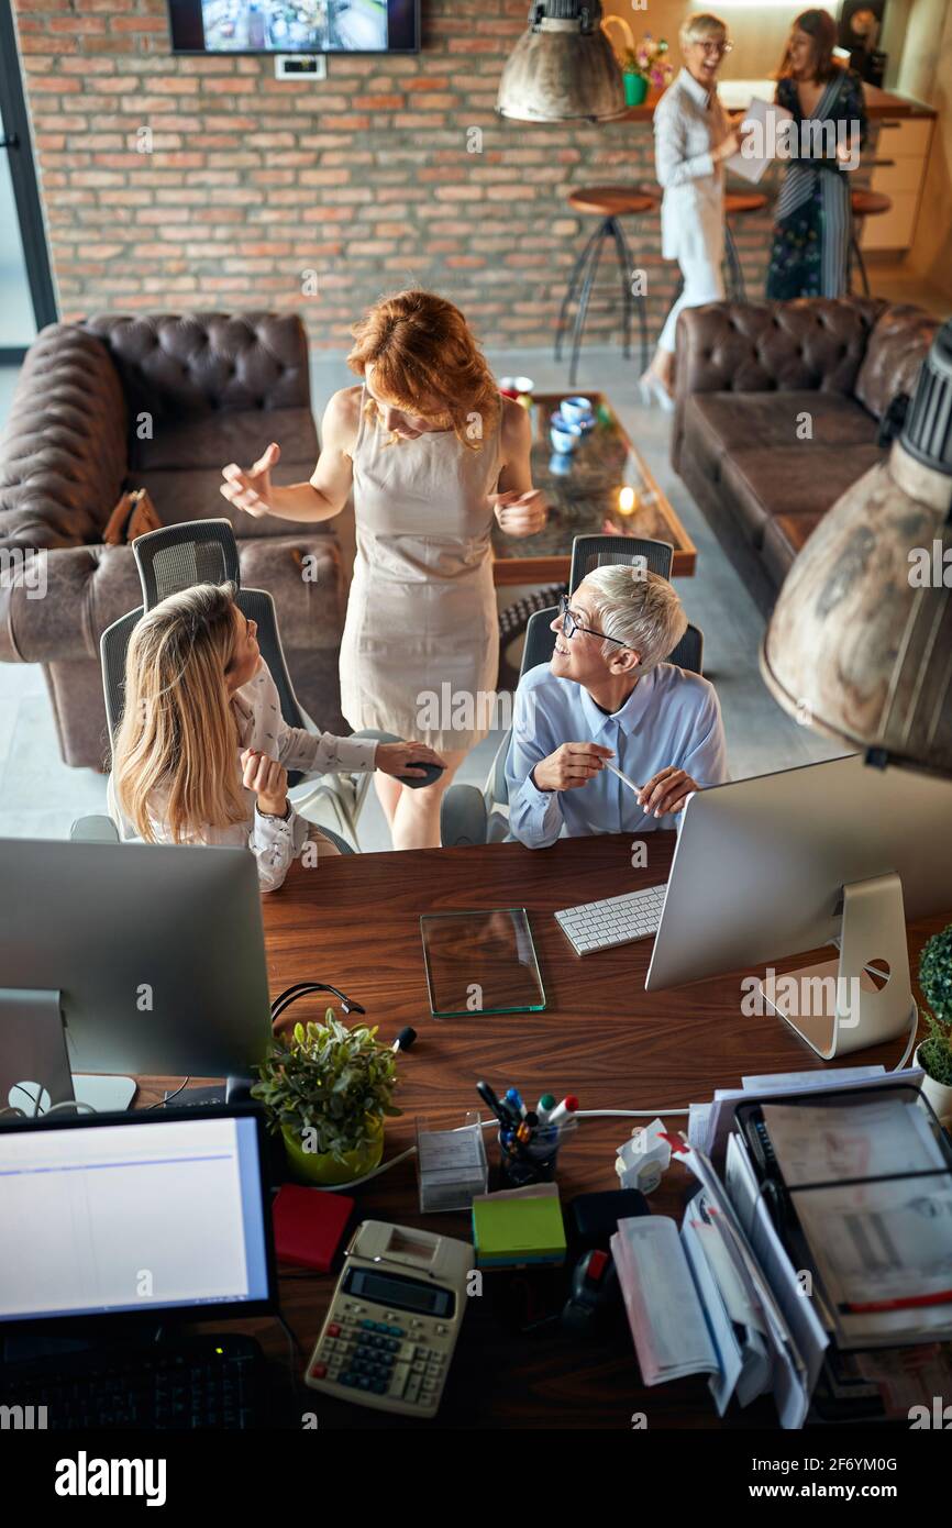
[[[269,1041],[248,850],[0,840],[0,1108],[125,1108],[79,1074],[226,1077]]]

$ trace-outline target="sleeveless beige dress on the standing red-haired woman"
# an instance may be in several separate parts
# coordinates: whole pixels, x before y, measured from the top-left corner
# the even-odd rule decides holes
[[[471,749],[492,726],[498,674],[489,495],[501,410],[474,451],[452,429],[390,443],[365,402],[362,393],[341,709],[355,730]]]

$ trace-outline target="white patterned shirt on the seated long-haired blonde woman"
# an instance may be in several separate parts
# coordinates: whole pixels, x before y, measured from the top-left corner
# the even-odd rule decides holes
[[[240,772],[240,755],[244,749],[258,749],[277,758],[284,769],[301,770],[306,775],[332,772],[370,772],[374,767],[376,738],[335,738],[330,732],[306,732],[289,727],[281,715],[281,701],[270,669],[264,659],[255,677],[232,695],[232,709],[238,723],[238,752],[235,769]],[[205,824],[180,843],[222,843],[249,848],[258,862],[261,891],[277,891],[283,883],[292,860],[301,853],[309,824],[293,807],[287,817],[264,817],[257,810],[254,790],[243,790],[248,807],[244,822],[226,828]],[[118,808],[108,784],[108,810],[124,839],[134,837],[134,828]],[[162,793],[154,792],[148,804],[148,817],[157,843],[173,843],[171,828],[162,816]]]

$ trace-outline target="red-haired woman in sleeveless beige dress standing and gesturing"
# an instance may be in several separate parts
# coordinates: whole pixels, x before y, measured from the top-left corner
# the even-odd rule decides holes
[[[440,842],[440,799],[489,730],[498,668],[494,515],[506,535],[546,524],[529,416],[503,399],[466,319],[432,292],[371,307],[330,399],[310,483],[275,487],[270,445],[222,492],[249,515],[322,521],[353,489],[358,555],[341,643],[341,709],[355,729],[425,738],[446,759],[410,790],[377,775],[394,848]],[[436,726],[434,726],[436,720]]]

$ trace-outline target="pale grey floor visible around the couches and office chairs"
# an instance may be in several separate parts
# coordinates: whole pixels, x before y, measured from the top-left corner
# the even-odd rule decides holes
[[[494,351],[489,361],[497,376],[529,373],[539,388],[567,387],[565,365],[556,365],[549,354]],[[329,394],[348,380],[351,374],[341,361],[321,359],[318,353],[313,362],[318,413]],[[3,411],[5,382],[0,374]],[[721,698],[732,775],[759,775],[842,752],[799,727],[767,694],[756,657],[763,617],[672,472],[668,463],[669,416],[639,405],[634,364],[622,361],[614,351],[588,350],[579,374],[579,390],[585,387],[608,393],[698,547],[695,578],[678,579],[677,587],[689,619],[704,633],[704,669]],[[516,593],[503,590],[501,601],[510,602]],[[458,778],[481,785],[497,744],[498,735],[475,749]],[[40,669],[0,663],[0,836],[66,836],[76,816],[101,811],[104,799],[101,776],[92,770],[69,769],[60,761]],[[390,847],[373,792],[364,810],[361,843],[365,850]]]

